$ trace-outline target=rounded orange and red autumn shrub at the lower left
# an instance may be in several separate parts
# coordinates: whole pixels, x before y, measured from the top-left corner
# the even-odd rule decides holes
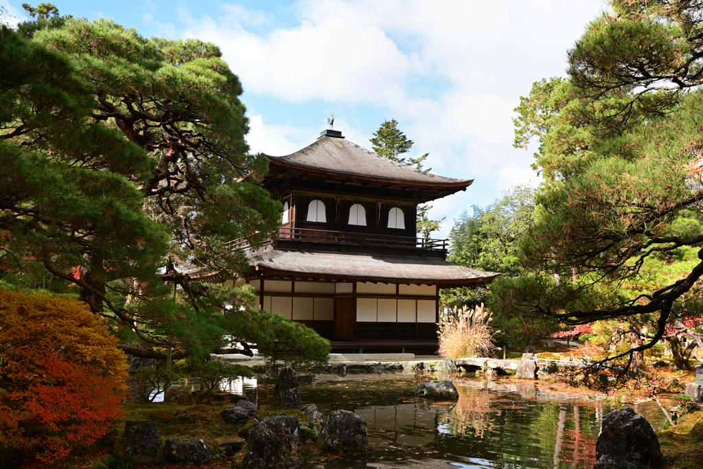
[[[0,447],[46,464],[120,418],[127,361],[86,304],[0,290]]]

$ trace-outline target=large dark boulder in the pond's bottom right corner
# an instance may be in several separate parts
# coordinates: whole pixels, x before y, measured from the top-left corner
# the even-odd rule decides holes
[[[659,440],[643,416],[626,407],[603,418],[593,469],[664,468]]]

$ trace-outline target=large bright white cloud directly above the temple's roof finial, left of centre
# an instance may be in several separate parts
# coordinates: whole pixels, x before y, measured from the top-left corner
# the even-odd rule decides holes
[[[304,20],[264,36],[248,32],[241,23],[208,17],[188,21],[184,36],[219,45],[245,89],[259,96],[295,103],[389,103],[403,99],[404,79],[420,71],[417,56],[405,56],[378,27],[344,18],[317,24]]]

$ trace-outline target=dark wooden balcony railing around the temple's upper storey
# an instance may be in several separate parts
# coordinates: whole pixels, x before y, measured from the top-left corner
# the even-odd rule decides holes
[[[374,233],[351,233],[349,231],[327,231],[308,228],[278,228],[280,240],[303,240],[318,243],[379,246],[389,248],[417,248],[423,250],[446,250],[446,239],[409,238]]]

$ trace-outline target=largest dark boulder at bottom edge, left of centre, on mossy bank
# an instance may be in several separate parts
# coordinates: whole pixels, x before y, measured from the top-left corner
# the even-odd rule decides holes
[[[245,444],[242,466],[245,468],[297,468],[298,447],[288,432],[271,418],[262,418]]]

